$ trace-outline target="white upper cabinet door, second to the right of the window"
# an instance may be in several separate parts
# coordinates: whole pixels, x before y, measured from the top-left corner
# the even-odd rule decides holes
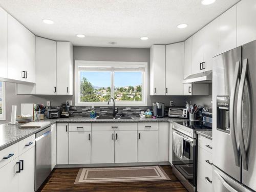
[[[183,95],[184,42],[166,46],[165,95]]]

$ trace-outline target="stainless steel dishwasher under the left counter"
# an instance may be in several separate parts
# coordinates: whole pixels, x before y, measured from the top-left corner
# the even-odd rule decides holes
[[[46,180],[52,171],[52,132],[51,126],[35,135],[35,190]]]

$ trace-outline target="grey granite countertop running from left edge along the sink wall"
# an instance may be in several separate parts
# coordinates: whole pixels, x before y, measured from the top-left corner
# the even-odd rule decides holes
[[[83,122],[89,122],[89,123],[108,123],[108,122],[172,122],[172,121],[183,121],[184,119],[180,118],[157,118],[157,119],[147,119],[147,118],[139,118],[139,117],[133,117],[134,119],[123,119],[123,120],[95,120],[91,119],[90,117],[82,117],[82,116],[76,116],[76,117],[69,117],[69,118],[58,118],[58,119],[44,119],[42,121],[50,121],[50,124],[46,126],[42,126],[41,128],[19,128],[18,125],[10,125],[8,123],[6,124],[0,124],[0,151],[4,150],[4,148],[17,143],[35,133],[38,133],[46,127],[54,124],[54,123],[83,123]]]

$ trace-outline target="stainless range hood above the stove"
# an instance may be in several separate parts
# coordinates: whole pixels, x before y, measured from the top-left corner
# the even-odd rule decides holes
[[[212,70],[204,71],[202,73],[197,73],[189,75],[183,80],[183,83],[211,83],[212,81]]]

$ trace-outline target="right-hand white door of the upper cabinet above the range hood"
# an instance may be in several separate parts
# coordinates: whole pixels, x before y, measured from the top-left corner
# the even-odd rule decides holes
[[[219,18],[216,18],[202,30],[203,33],[203,71],[212,70],[212,57],[218,55],[219,51]]]

